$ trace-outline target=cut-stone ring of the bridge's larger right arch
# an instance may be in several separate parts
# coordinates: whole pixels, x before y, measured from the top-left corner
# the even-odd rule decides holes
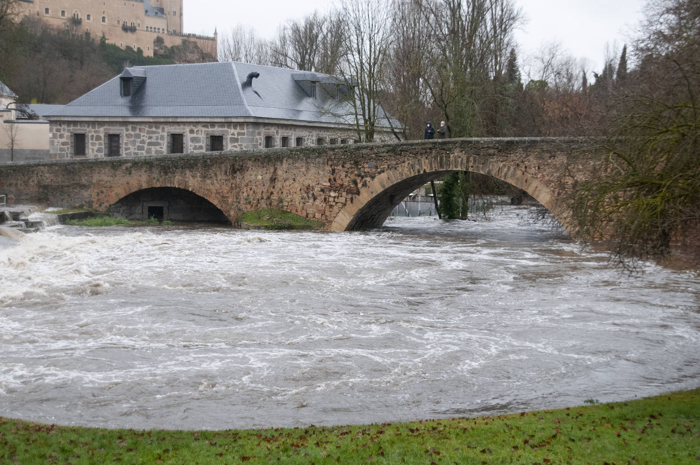
[[[337,231],[379,228],[393,208],[407,195],[424,183],[446,174],[470,171],[493,176],[524,190],[540,202],[554,217],[554,193],[549,186],[519,167],[479,155],[428,155],[422,160],[411,160],[379,174],[335,217],[330,229]]]

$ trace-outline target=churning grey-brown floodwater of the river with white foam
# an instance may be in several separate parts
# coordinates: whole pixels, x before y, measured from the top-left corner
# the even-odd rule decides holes
[[[0,415],[356,424],[700,386],[697,273],[622,275],[526,212],[370,232],[27,235],[0,249]]]

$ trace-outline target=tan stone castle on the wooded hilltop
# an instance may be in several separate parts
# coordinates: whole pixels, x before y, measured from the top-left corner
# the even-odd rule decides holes
[[[23,15],[33,16],[44,24],[87,32],[95,39],[104,34],[107,42],[121,48],[141,48],[149,57],[153,56],[154,48],[179,46],[186,39],[216,58],[216,30],[214,36],[183,33],[183,0],[21,0],[20,3],[24,6]]]

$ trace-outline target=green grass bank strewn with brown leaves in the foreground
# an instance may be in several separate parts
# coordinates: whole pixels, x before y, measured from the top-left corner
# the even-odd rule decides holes
[[[589,402],[594,403],[594,402]],[[134,431],[0,417],[8,464],[697,464],[700,389],[496,417],[248,431]]]

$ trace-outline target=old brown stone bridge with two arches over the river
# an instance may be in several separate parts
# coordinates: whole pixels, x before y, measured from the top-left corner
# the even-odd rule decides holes
[[[424,183],[471,171],[525,190],[566,227],[561,175],[587,172],[574,161],[585,146],[574,138],[443,139],[8,163],[0,165],[0,193],[17,204],[104,210],[139,191],[176,188],[204,197],[232,223],[281,207],[326,229],[360,230],[380,226]]]

